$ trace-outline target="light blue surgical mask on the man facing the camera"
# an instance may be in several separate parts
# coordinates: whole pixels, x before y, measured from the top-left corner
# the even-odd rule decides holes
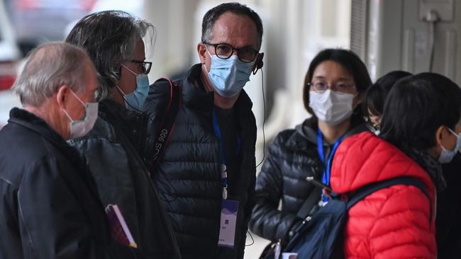
[[[236,96],[250,81],[253,63],[241,62],[237,55],[230,56],[228,59],[221,59],[214,54],[210,56],[211,69],[207,72],[214,90],[226,98]]]

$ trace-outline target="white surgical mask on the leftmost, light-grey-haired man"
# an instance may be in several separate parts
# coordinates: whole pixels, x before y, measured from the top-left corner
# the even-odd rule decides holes
[[[77,137],[83,137],[84,135],[88,134],[88,132],[93,128],[96,119],[98,118],[98,103],[84,103],[80,98],[74,93],[74,91],[70,91],[77,100],[79,100],[82,105],[85,107],[85,116],[83,120],[72,120],[67,110],[64,110],[65,115],[70,120],[70,138],[74,139]]]

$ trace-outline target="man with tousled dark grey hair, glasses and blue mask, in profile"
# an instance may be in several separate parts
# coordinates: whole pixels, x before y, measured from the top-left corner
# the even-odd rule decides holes
[[[88,52],[98,71],[100,102],[94,129],[70,144],[86,156],[104,207],[119,207],[132,236],[129,241],[114,227],[113,238],[146,258],[171,259],[179,258],[177,241],[141,156],[148,115],[140,110],[152,64],[145,61],[149,41],[143,38],[152,33],[152,24],[122,11],[91,13],[72,28],[66,42]]]

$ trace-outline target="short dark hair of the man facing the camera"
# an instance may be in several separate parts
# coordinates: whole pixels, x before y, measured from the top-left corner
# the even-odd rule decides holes
[[[241,16],[248,16],[256,25],[257,35],[260,40],[260,42],[258,42],[258,47],[261,47],[263,32],[261,18],[251,8],[239,3],[220,4],[205,13],[204,20],[201,23],[201,42],[210,42],[214,23],[216,23],[221,14],[226,12],[232,12]]]

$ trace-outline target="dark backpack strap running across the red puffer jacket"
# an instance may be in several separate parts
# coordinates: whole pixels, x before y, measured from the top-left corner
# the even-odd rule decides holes
[[[392,178],[389,180],[383,180],[381,182],[377,183],[370,183],[369,185],[365,185],[357,192],[355,192],[353,195],[349,197],[348,200],[348,205],[347,208],[348,210],[355,205],[355,203],[359,202],[363,198],[367,197],[368,195],[372,194],[372,192],[376,192],[377,190],[380,190],[382,188],[387,188],[391,185],[413,185],[421,192],[428,197],[429,200],[429,205],[431,205],[431,212],[430,212],[430,217],[429,220],[431,222],[432,219],[432,202],[431,202],[431,195],[429,195],[428,188],[426,188],[426,185],[421,183],[421,180],[418,180],[414,177],[409,177],[409,176],[402,176],[402,177],[397,177],[397,178]]]

